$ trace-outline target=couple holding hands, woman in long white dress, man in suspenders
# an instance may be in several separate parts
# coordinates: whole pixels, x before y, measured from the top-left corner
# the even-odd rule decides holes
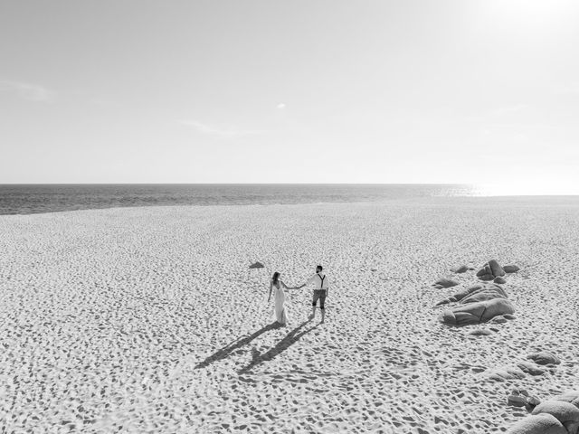
[[[322,323],[324,322],[324,316],[326,314],[324,303],[326,301],[327,296],[327,289],[329,288],[327,276],[322,273],[322,266],[318,265],[316,267],[316,274],[314,274],[311,278],[308,278],[308,281],[299,287],[288,288],[285,283],[280,280],[280,273],[275,272],[273,273],[273,277],[271,278],[270,282],[270,296],[268,297],[268,301],[271,300],[271,291],[274,291],[273,299],[275,301],[275,319],[278,323],[286,325],[288,323],[288,312],[286,307],[284,306],[284,302],[286,300],[286,295],[283,292],[283,288],[286,289],[299,289],[304,288],[306,285],[314,285],[314,297],[312,298],[312,310],[309,319],[313,319],[316,316],[316,304],[318,303],[319,298],[319,309],[322,313]]]

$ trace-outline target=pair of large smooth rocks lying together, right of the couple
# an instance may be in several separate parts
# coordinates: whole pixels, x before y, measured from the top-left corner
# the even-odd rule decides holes
[[[470,325],[505,322],[512,319],[515,307],[508,300],[503,288],[495,284],[478,284],[465,288],[438,303],[437,306],[457,302],[459,306],[441,314],[441,322],[448,325]]]

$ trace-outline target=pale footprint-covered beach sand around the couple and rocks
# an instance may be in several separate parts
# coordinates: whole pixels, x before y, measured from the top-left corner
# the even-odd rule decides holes
[[[5,432],[491,433],[526,416],[513,389],[579,389],[576,201],[129,208],[0,233]],[[476,269],[432,283],[493,258],[520,267],[516,319],[442,325],[434,305]],[[272,326],[271,273],[299,285],[318,263],[326,324],[303,288]],[[562,363],[489,380],[537,351]]]

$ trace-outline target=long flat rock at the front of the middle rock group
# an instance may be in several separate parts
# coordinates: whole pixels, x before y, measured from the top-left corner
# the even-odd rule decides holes
[[[448,325],[479,324],[485,323],[495,316],[514,312],[515,307],[510,301],[505,298],[494,298],[445,310],[441,315],[441,322]]]

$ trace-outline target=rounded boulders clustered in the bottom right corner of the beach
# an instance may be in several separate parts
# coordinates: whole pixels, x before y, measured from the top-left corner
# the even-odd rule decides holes
[[[527,406],[527,403],[524,405]],[[579,434],[579,391],[566,392],[551,400],[536,404],[530,416],[519,420],[507,432],[508,434]]]

